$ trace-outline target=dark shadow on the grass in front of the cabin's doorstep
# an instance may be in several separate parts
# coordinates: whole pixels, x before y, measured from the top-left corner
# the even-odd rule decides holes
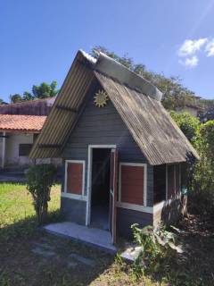
[[[47,223],[59,221],[59,210],[49,214]],[[35,254],[37,245],[47,245],[53,257]],[[72,254],[95,265],[73,262]],[[36,215],[0,230],[0,285],[89,285],[113,262],[114,257],[101,250],[38,230]]]

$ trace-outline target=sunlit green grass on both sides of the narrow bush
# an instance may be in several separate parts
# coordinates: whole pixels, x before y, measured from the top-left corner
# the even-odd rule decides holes
[[[48,204],[49,220],[59,217],[60,186],[52,188]],[[0,184],[0,241],[31,235],[37,228],[37,216],[25,184]]]

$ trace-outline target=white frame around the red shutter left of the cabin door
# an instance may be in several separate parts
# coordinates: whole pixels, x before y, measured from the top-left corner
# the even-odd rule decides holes
[[[82,168],[83,168],[83,174],[82,174],[82,195],[67,193],[68,164],[69,163],[82,164]],[[86,199],[84,199],[84,197],[85,197],[84,196],[84,191],[85,191],[85,172],[86,172],[86,161],[85,160],[65,160],[64,191],[62,192],[62,197],[86,200]],[[65,194],[66,194],[66,196],[65,196]]]

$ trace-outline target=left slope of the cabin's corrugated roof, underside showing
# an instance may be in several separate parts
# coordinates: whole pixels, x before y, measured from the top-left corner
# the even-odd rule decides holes
[[[31,149],[31,158],[61,156],[63,144],[77,119],[86,91],[95,79],[91,70],[94,63],[90,56],[78,51],[43,130]]]

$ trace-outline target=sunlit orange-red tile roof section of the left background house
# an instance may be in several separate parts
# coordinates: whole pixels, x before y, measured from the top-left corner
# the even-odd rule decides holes
[[[35,131],[42,130],[46,116],[0,114],[0,131]]]

